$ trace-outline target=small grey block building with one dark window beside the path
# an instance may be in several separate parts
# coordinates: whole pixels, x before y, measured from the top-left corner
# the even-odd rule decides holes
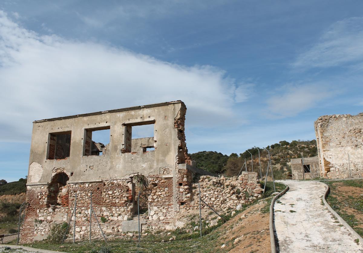
[[[294,180],[313,179],[320,177],[319,158],[306,157],[290,160]]]

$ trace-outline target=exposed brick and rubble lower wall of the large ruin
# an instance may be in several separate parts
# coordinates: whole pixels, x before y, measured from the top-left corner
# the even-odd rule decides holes
[[[194,173],[179,169],[176,177],[176,200],[174,208],[173,177],[164,170],[164,174],[147,176],[149,181],[147,207],[142,215],[142,230],[175,229],[180,213],[199,210],[199,189],[192,183]],[[262,194],[256,172],[242,172],[237,177],[200,177],[201,197],[221,214],[236,209],[240,204],[255,200]],[[21,242],[44,240],[48,237],[54,223],[68,222],[74,209],[77,193],[76,239],[88,238],[90,217],[90,193],[92,206],[98,217],[103,232],[107,235],[121,235],[128,232],[130,226],[137,229],[137,195],[139,188],[132,177],[102,180],[88,183],[70,183],[61,187],[56,205],[49,205],[47,185],[27,186],[25,222],[21,227]],[[140,203],[142,199],[140,199]],[[202,204],[203,209],[208,209]],[[183,212],[181,212],[183,211]],[[101,217],[106,222],[101,222]],[[133,223],[135,224],[133,224]],[[73,232],[73,218],[71,222]],[[101,230],[92,217],[92,236],[100,236]]]

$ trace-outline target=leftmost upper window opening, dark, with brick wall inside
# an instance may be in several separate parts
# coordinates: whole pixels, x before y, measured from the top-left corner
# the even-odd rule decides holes
[[[70,154],[71,132],[50,133],[47,159],[65,159]]]

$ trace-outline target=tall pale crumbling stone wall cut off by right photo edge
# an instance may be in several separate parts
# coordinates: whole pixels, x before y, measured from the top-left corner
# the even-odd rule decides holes
[[[327,115],[315,121],[321,176],[363,176],[363,113]]]

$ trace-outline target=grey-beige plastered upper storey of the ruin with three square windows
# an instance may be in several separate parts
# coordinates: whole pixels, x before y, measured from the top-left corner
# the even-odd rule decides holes
[[[190,160],[185,144],[185,112],[185,104],[178,100],[34,121],[28,183],[46,184],[59,170],[72,174],[69,182],[123,178],[134,173],[158,175],[165,171],[170,171],[172,177],[178,164]],[[154,136],[132,139],[132,127],[145,124],[154,126]],[[100,129],[110,129],[110,143],[105,147],[97,143],[92,146],[89,132]],[[66,136],[61,138],[60,134]],[[57,142],[65,140],[70,140],[69,146]],[[132,145],[132,140],[138,141]],[[86,150],[87,145],[92,150]],[[155,150],[147,151],[150,147]],[[65,150],[58,152],[59,149]],[[103,151],[102,155],[91,155],[94,149],[95,153]],[[52,152],[54,156],[50,157]],[[69,156],[50,159],[56,158],[57,153]]]

